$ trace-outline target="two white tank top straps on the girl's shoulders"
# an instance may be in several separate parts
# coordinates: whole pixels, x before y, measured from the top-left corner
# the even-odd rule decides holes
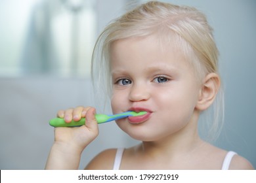
[[[125,150],[125,148],[117,148],[113,170],[119,170],[124,150]],[[221,168],[222,170],[228,170],[229,169],[229,165],[230,165],[231,160],[232,160],[234,155],[236,155],[236,152],[232,152],[232,151],[229,151],[226,154],[226,156],[224,158],[224,161],[223,161],[223,167]]]

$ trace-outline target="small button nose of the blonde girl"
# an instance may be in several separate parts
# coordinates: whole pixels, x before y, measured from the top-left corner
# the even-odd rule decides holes
[[[146,101],[150,98],[148,88],[142,84],[133,84],[129,93],[129,100],[133,102]]]

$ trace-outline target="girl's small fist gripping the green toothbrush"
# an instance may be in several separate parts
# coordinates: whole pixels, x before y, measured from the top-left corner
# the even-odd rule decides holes
[[[68,110],[58,111],[58,118],[64,118],[66,123],[79,121],[85,118],[85,125],[80,127],[55,127],[55,144],[61,144],[67,148],[74,148],[77,152],[83,149],[93,141],[98,135],[98,124],[95,119],[95,108],[76,107]]]

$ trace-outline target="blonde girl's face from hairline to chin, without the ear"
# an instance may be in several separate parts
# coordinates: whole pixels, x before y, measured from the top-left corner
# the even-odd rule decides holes
[[[179,49],[170,45],[150,36],[122,39],[111,47],[112,110],[147,112],[117,120],[123,131],[140,141],[196,130],[193,116],[200,84]]]

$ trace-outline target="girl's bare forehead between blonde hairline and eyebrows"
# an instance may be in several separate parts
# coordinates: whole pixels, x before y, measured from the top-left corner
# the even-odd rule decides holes
[[[161,66],[188,67],[188,61],[181,50],[173,45],[158,44],[156,37],[135,37],[122,39],[112,45],[110,64],[122,67],[129,64],[144,64],[144,67]]]

